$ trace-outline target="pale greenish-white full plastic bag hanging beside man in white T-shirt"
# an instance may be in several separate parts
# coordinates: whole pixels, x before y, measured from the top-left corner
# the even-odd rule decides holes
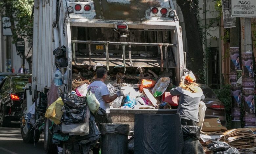
[[[98,110],[99,110],[99,101],[97,100],[95,95],[90,92],[90,90],[91,90],[91,88],[88,89],[88,92],[87,92],[87,95],[86,95],[87,104],[89,106],[90,111],[94,115],[96,115],[98,113]]]

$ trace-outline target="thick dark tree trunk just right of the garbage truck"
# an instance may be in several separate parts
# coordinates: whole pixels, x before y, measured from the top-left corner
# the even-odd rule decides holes
[[[198,81],[202,83],[204,82],[204,52],[197,14],[198,0],[178,0],[177,4],[181,8],[186,28],[188,42],[187,64],[189,64],[187,67],[197,75]]]

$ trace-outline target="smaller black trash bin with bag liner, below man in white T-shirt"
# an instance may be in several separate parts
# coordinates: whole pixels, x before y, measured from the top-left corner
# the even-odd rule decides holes
[[[100,124],[101,154],[126,154],[128,152],[129,124]]]

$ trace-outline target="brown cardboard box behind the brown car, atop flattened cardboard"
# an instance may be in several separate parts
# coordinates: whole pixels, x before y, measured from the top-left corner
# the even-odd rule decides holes
[[[202,131],[226,131],[219,118],[204,119]]]

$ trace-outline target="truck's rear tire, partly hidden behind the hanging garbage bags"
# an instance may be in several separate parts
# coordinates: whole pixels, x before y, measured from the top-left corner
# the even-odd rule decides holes
[[[46,153],[57,153],[57,146],[53,144],[53,133],[50,130],[50,127],[53,126],[52,122],[45,118],[44,124],[44,150]]]

